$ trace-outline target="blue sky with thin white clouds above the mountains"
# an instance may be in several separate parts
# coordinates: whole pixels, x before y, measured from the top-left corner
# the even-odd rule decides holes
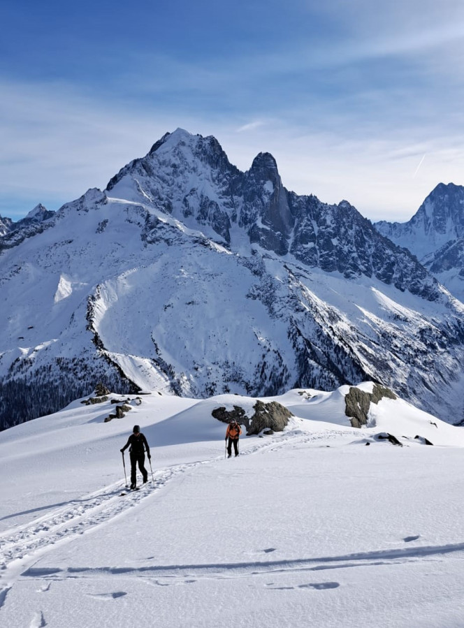
[[[464,184],[461,0],[3,0],[0,24],[3,217],[104,189],[177,127],[372,221]]]

